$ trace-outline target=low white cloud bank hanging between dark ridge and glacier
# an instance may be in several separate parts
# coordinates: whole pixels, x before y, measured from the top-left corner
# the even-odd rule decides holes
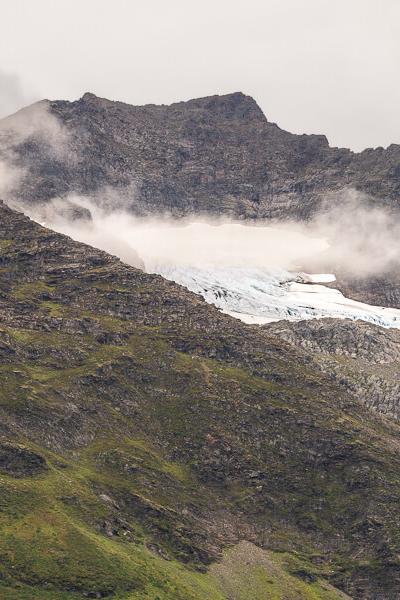
[[[138,218],[112,190],[29,208],[42,224],[157,270],[160,264],[200,268],[252,267],[347,272],[357,276],[400,268],[400,219],[346,190],[309,223],[243,223],[224,219]],[[25,207],[26,212],[26,207]]]

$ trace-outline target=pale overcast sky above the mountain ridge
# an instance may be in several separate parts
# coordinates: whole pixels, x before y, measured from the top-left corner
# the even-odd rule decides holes
[[[252,95],[270,121],[400,143],[400,0],[0,0],[0,114],[85,91]]]

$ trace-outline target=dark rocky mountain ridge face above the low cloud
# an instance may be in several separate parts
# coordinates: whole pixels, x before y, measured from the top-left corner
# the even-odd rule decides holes
[[[8,145],[27,168],[19,190],[26,202],[98,190],[106,202],[111,187],[139,214],[307,219],[322,196],[352,186],[399,208],[400,146],[359,154],[331,148],[323,135],[294,135],[268,122],[242,93],[170,106],[85,94],[43,106],[52,126],[36,117],[31,135]],[[35,105],[30,110],[36,115]],[[3,138],[18,122],[0,122]],[[57,142],[55,129],[61,153],[49,143],[49,136]]]

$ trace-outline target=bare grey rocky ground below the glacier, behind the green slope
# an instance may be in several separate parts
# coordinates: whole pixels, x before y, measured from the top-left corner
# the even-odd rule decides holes
[[[400,419],[400,331],[364,321],[321,319],[266,326],[369,408]]]

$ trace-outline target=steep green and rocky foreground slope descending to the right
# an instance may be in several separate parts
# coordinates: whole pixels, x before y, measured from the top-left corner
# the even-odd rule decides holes
[[[0,252],[3,597],[399,594],[395,420],[5,206]]]

